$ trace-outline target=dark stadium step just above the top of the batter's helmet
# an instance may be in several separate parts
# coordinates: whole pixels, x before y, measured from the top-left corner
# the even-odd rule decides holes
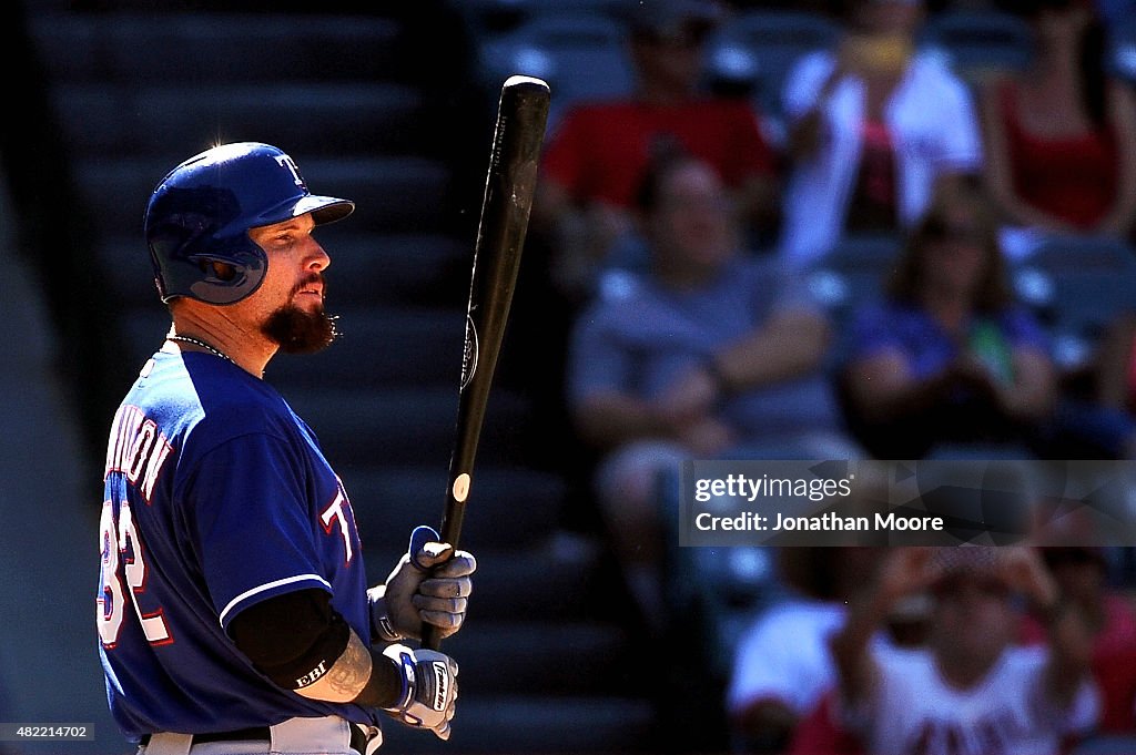
[[[424,143],[424,131],[441,131],[437,104],[419,89],[393,82],[76,82],[52,87],[50,95],[73,152],[116,159],[172,150],[189,157],[211,142],[241,140],[285,150],[302,145],[298,160],[410,153]]]

